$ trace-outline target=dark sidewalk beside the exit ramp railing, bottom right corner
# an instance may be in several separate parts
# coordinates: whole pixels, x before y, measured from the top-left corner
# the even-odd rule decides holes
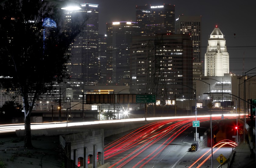
[[[251,149],[247,141],[240,142],[236,147],[236,153],[233,162],[231,163],[231,168],[251,168],[255,166],[255,156],[250,158]]]

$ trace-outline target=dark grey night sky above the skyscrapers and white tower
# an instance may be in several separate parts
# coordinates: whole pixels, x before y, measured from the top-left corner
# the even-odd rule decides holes
[[[85,3],[99,5],[100,34],[106,33],[106,23],[135,22],[136,5],[164,3],[175,5],[175,18],[180,15],[202,16],[201,61],[204,62],[208,37],[215,25],[218,25],[226,39],[230,72],[242,75],[243,67],[244,72],[256,67],[256,1],[254,0],[87,0]]]

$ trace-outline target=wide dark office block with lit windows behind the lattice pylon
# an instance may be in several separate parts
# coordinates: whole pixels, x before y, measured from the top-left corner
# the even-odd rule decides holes
[[[131,93],[157,94],[157,100],[164,95],[163,101],[181,94],[193,97],[193,44],[189,35],[161,35],[153,40],[152,36],[134,37],[131,60]]]

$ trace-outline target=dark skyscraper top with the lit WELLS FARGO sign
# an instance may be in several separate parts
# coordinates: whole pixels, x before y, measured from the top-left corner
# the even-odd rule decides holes
[[[136,6],[136,22],[141,27],[142,36],[175,33],[175,6]]]

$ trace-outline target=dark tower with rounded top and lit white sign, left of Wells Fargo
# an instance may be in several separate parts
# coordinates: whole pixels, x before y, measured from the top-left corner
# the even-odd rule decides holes
[[[140,36],[140,27],[134,22],[107,23],[107,80],[128,85],[130,82],[130,43]]]

